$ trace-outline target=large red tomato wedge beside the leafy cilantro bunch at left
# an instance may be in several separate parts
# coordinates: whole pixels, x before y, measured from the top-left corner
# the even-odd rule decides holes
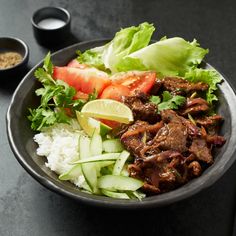
[[[53,69],[53,78],[63,80],[71,87],[82,93],[93,93],[98,95],[111,83],[108,75],[95,68],[57,67]]]

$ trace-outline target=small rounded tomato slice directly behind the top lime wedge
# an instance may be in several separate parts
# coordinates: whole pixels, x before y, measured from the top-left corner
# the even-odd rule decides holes
[[[129,95],[130,95],[130,90],[127,87],[117,84],[106,87],[103,90],[100,98],[107,98],[121,101],[122,96],[129,96]]]

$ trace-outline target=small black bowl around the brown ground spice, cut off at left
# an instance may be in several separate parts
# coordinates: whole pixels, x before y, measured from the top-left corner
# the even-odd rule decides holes
[[[29,61],[29,48],[21,39],[12,37],[0,38],[0,51],[17,52],[22,56],[22,61],[15,66],[0,69],[1,80],[7,82],[12,77],[18,78],[24,71]]]

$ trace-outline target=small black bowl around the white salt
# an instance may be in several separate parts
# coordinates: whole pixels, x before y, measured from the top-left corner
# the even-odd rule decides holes
[[[48,29],[39,25],[39,22],[48,18],[59,19],[65,22],[64,25]],[[45,46],[54,46],[64,42],[66,35],[70,33],[70,13],[61,7],[44,7],[38,9],[31,18],[34,36],[39,44]]]

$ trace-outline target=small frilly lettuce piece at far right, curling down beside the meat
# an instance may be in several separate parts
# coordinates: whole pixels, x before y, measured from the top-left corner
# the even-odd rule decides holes
[[[206,70],[201,68],[196,68],[190,70],[185,74],[185,79],[190,82],[204,82],[209,85],[209,88],[206,93],[206,100],[209,104],[212,104],[213,101],[218,100],[214,92],[217,90],[217,84],[221,82],[221,77],[219,73],[214,70]]]

